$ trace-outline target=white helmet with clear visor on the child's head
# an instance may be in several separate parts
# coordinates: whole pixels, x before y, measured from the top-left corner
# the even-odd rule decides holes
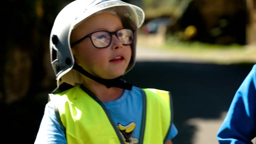
[[[131,45],[132,57],[125,73],[134,66],[137,30],[144,22],[143,10],[121,0],[75,0],[65,6],[57,15],[50,35],[51,65],[56,76],[57,86],[63,82],[73,86],[82,83],[78,71],[72,69],[75,62],[70,47],[70,34],[89,16],[107,8],[115,9],[125,28],[135,30],[134,42]]]

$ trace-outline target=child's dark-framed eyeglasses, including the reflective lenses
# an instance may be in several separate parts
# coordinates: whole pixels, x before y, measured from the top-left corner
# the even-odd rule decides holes
[[[79,39],[78,41],[72,43],[70,46],[73,47],[74,45],[80,43],[87,37],[91,39],[93,46],[96,48],[105,48],[108,47],[112,40],[112,35],[115,35],[119,40],[122,41],[123,45],[129,45],[133,43],[133,31],[131,29],[122,28],[114,32],[109,31],[96,31],[92,32],[83,38]]]

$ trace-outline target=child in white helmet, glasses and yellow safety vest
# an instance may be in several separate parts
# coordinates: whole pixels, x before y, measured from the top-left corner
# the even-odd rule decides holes
[[[120,0],[76,0],[50,35],[57,89],[35,143],[171,144],[177,135],[169,92],[121,77],[135,64],[141,8]]]

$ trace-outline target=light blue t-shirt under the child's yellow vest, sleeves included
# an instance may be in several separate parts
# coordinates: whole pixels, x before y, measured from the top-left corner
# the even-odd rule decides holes
[[[131,91],[124,90],[123,95],[119,99],[110,102],[104,102],[103,104],[107,108],[116,125],[136,125],[132,136],[132,139],[136,141],[139,140],[140,137],[143,109],[142,103],[143,99],[141,90],[137,87],[133,87]],[[174,138],[177,134],[178,131],[175,125],[172,124],[171,131],[167,140]],[[35,140],[35,144],[38,143],[67,143],[65,134],[57,122],[53,109],[53,103],[51,101],[49,101],[45,107],[44,115]]]

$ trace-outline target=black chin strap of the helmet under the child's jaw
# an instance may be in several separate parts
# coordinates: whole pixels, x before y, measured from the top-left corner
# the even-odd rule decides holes
[[[86,70],[84,70],[81,66],[79,66],[76,62],[74,63],[73,69],[80,72],[81,74],[87,76],[88,78],[106,85],[107,88],[110,87],[117,87],[117,88],[122,88],[122,89],[127,89],[127,90],[132,90],[132,84],[126,83],[124,80],[121,80],[121,77],[117,77],[114,79],[103,79],[103,78],[98,78],[92,74],[90,74],[89,72],[87,72]]]

